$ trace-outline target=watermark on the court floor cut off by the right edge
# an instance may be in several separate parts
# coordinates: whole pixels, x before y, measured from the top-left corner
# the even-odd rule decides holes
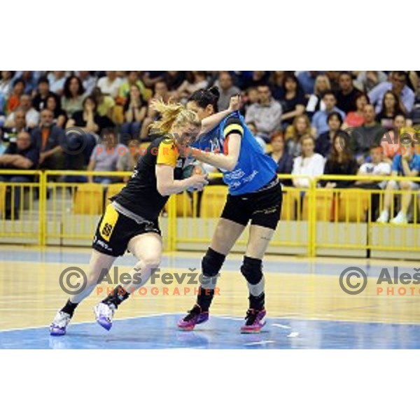
[[[359,295],[367,286],[365,270],[347,267],[339,276],[339,286],[348,295]],[[383,267],[376,286],[378,296],[420,296],[420,268]]]

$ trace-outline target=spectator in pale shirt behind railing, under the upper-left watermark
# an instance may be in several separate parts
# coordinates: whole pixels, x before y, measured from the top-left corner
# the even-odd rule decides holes
[[[117,169],[117,162],[120,156],[130,153],[126,146],[118,144],[114,130],[104,130],[101,142],[94,147],[90,156],[87,171],[113,172]],[[88,182],[109,184],[116,181],[113,176],[87,176]]]

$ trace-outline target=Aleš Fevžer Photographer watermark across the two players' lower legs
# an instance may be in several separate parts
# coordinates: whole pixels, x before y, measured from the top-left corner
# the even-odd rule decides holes
[[[218,276],[220,274],[211,278],[205,277],[197,268],[188,268],[186,272],[169,272],[156,268],[152,270],[149,278],[143,281],[141,269],[134,269],[134,274],[131,275],[116,266],[112,270],[102,269],[97,279],[92,279],[90,284],[96,286],[97,295],[112,293],[118,285],[122,286],[125,293],[135,292],[139,295],[197,295],[200,293],[200,286],[204,286],[206,290],[214,289],[214,293],[219,295],[220,290],[216,287]],[[59,275],[59,286],[68,295],[82,293],[88,283],[88,276],[80,267],[67,267]]]

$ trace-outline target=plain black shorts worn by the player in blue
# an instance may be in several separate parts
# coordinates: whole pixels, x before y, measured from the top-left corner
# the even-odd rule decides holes
[[[228,194],[221,217],[239,225],[246,226],[251,221],[251,225],[275,230],[280,220],[282,198],[280,183],[255,193]]]

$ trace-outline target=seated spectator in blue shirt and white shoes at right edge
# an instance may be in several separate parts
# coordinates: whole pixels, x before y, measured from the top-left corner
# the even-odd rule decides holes
[[[414,153],[414,141],[410,144],[401,144],[400,153],[395,155],[391,166],[392,176],[418,176],[420,173],[420,155]],[[384,209],[381,211],[377,222],[388,223],[391,211],[391,203],[394,198],[394,190],[418,191],[420,184],[414,181],[388,181],[384,197]],[[391,223],[402,225],[407,223],[407,211],[412,202],[412,194],[401,195],[401,207],[397,216],[391,219]]]

